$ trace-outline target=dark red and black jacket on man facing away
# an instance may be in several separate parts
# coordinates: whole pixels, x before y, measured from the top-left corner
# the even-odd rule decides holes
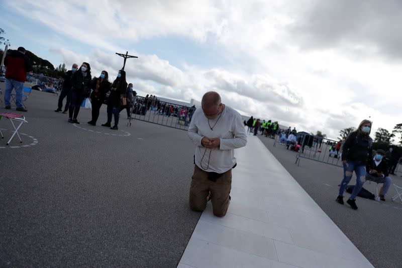
[[[27,80],[27,72],[32,70],[29,58],[17,50],[7,51],[4,65],[7,66],[6,78],[21,82]]]

